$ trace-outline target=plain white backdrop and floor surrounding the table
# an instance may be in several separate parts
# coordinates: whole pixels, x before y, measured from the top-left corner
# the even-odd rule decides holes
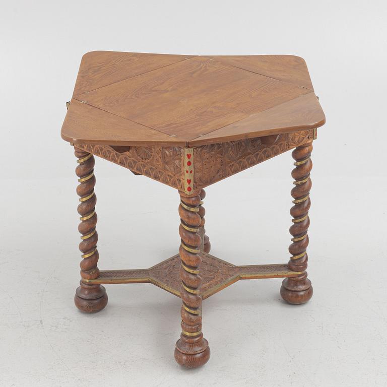
[[[3,4],[0,385],[386,385],[386,18],[384,1]],[[206,300],[212,355],[201,369],[173,359],[178,298],[113,285],[100,313],[73,304],[76,160],[60,127],[91,50],[299,55],[325,110],[313,151],[313,298],[286,305],[281,281],[266,280]],[[235,264],[288,260],[291,169],[286,153],[207,189],[213,254]],[[101,159],[96,176],[101,269],[176,253],[172,188]]]

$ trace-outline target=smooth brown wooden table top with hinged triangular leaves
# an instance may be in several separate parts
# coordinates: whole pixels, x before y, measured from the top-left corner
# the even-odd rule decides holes
[[[61,136],[74,143],[197,146],[321,126],[304,59],[92,51]]]

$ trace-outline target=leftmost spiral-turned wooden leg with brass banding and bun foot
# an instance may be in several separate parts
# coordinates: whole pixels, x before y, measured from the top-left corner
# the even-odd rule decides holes
[[[78,206],[78,213],[81,215],[81,223],[78,226],[82,234],[79,249],[82,252],[81,261],[81,286],[78,287],[75,294],[75,305],[83,312],[98,312],[107,304],[107,294],[105,288],[101,285],[88,285],[83,280],[95,279],[99,276],[97,267],[98,234],[96,231],[97,214],[95,213],[95,204],[97,198],[94,194],[95,176],[94,176],[94,156],[79,148],[75,149],[75,156],[78,158],[78,166],[75,170],[79,185],[77,193],[81,202]]]

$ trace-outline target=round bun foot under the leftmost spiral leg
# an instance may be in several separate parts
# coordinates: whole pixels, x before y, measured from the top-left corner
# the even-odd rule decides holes
[[[75,306],[82,312],[99,312],[107,305],[106,290],[101,285],[85,285],[82,283],[75,293]]]

